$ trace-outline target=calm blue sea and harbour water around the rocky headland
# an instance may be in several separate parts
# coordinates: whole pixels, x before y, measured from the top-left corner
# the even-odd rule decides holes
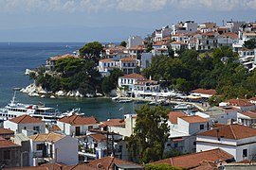
[[[71,54],[79,49],[82,42],[0,42],[0,108],[9,103],[12,88],[26,87],[31,80],[24,76],[27,68],[34,69],[46,63],[46,59],[56,55]],[[66,47],[68,45],[68,47]],[[43,102],[47,107],[68,110],[81,108],[85,116],[96,116],[99,120],[121,118],[123,113],[134,112],[139,106],[134,103],[119,104],[107,98],[39,98],[17,93],[23,103]],[[123,107],[123,110],[119,110]]]

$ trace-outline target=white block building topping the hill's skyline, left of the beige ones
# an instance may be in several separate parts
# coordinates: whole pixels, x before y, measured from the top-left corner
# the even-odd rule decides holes
[[[192,33],[197,31],[197,23],[194,21],[180,22],[172,26],[172,35],[177,33]]]

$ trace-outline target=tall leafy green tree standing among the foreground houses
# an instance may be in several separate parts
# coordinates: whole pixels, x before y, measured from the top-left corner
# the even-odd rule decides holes
[[[133,161],[140,163],[158,161],[163,157],[164,144],[169,136],[167,125],[169,110],[144,105],[137,111],[134,135],[127,138]],[[137,156],[139,157],[137,158]]]

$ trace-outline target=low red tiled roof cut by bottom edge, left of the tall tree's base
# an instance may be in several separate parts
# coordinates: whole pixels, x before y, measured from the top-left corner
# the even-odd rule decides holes
[[[112,169],[114,164],[116,164],[118,166],[119,165],[133,165],[133,166],[137,166],[137,168],[143,167],[143,166],[141,166],[137,163],[134,163],[132,161],[123,161],[123,160],[119,160],[118,158],[115,158],[115,157],[104,157],[99,160],[90,161],[87,164],[92,167],[100,168],[100,169]]]

